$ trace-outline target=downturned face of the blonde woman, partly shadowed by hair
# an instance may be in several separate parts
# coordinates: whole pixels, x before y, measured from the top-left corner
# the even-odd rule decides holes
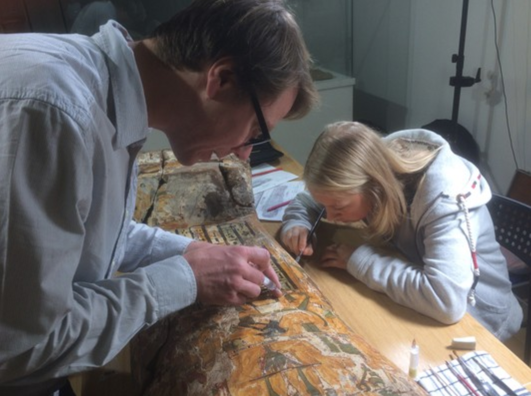
[[[326,208],[327,220],[344,223],[356,222],[367,217],[372,204],[363,194],[339,193],[309,188],[313,199]]]

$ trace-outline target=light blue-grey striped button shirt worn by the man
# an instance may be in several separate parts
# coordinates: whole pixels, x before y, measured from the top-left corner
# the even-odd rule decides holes
[[[0,35],[0,394],[104,365],[195,301],[190,239],[131,222],[148,125],[124,32]]]

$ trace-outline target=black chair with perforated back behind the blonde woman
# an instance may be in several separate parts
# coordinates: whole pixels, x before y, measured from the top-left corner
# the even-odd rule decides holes
[[[526,340],[524,346],[524,360],[530,364],[531,358],[531,282],[529,282],[529,269],[531,269],[531,206],[512,200],[508,197],[492,194],[492,200],[487,203],[487,208],[494,223],[496,240],[503,248],[527,264],[527,271],[512,271],[509,265],[515,295],[527,305]],[[517,289],[524,290],[522,295]]]

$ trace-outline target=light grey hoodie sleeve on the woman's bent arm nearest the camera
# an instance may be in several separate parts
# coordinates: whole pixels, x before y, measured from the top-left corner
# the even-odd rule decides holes
[[[459,212],[426,222],[419,231],[422,263],[411,262],[396,249],[365,244],[350,256],[347,270],[400,305],[445,324],[455,323],[466,313],[473,282],[463,222]]]

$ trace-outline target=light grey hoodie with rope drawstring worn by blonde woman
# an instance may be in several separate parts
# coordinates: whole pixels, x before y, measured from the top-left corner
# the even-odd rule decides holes
[[[395,252],[363,244],[350,256],[347,271],[396,303],[439,322],[458,322],[468,311],[497,338],[508,339],[520,329],[523,313],[512,294],[507,264],[485,206],[491,199],[489,185],[479,170],[454,154],[439,135],[417,129],[383,139],[397,138],[442,148],[426,170],[408,216],[391,240]],[[467,303],[474,274],[459,194],[466,196],[479,266],[475,304]],[[319,205],[307,192],[299,194],[286,209],[282,233],[294,226],[310,228],[318,210]]]

